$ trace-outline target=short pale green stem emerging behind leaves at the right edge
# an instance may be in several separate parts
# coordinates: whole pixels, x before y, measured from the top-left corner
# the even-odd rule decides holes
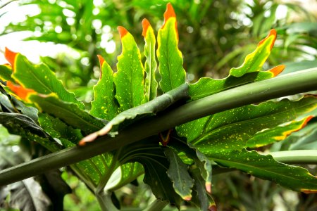
[[[317,150],[278,151],[270,155],[287,164],[317,164]]]

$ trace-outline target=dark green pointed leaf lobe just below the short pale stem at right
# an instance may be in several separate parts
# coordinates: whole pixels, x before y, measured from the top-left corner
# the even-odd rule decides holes
[[[277,162],[271,155],[242,150],[211,153],[208,156],[220,165],[269,179],[293,191],[317,191],[317,179],[306,169]]]

